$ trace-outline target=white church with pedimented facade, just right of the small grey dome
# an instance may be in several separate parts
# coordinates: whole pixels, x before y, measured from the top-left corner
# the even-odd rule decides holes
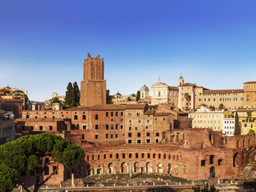
[[[177,106],[179,90],[177,86],[168,86],[164,82],[156,82],[151,86],[151,103],[154,105],[167,104]]]

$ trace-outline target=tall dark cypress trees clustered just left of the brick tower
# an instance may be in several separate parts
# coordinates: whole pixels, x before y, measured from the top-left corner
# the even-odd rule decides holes
[[[71,82],[69,82],[67,84],[64,108],[79,106],[79,102],[80,102],[79,86],[77,85],[77,82],[74,82],[73,85]]]

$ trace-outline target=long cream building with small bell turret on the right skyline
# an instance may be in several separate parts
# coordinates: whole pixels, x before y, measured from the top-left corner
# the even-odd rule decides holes
[[[189,97],[185,97],[188,96]],[[255,109],[256,82],[245,82],[243,89],[238,90],[209,90],[203,86],[184,82],[179,79],[179,104],[181,110],[194,110],[197,106],[206,105],[218,108],[223,104],[229,110],[239,108]]]

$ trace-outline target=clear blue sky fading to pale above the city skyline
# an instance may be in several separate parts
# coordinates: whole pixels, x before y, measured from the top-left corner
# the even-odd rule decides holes
[[[65,94],[100,54],[110,94],[161,77],[209,89],[256,81],[256,1],[0,0],[0,87]]]

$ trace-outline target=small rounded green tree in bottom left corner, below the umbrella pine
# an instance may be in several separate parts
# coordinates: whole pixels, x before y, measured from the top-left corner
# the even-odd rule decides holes
[[[4,164],[0,164],[0,191],[9,192],[14,189],[18,182],[17,170]]]

